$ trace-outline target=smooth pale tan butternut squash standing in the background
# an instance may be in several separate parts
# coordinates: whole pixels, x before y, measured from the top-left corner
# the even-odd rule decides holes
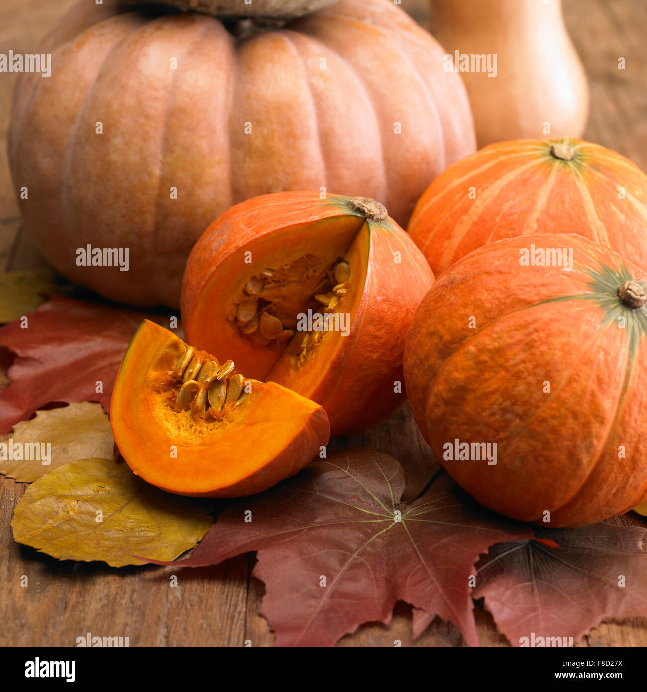
[[[447,68],[460,71],[467,87],[479,147],[583,134],[589,86],[561,0],[431,0],[431,5],[435,35],[448,51]]]

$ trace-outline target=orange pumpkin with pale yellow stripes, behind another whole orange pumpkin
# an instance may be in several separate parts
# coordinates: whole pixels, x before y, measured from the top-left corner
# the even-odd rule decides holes
[[[551,154],[554,145],[572,147],[572,161]],[[529,233],[577,233],[647,268],[647,175],[583,140],[501,142],[438,176],[407,230],[435,275],[486,243]]]

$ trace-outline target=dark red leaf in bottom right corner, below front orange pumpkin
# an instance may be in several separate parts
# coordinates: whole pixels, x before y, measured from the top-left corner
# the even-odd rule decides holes
[[[537,540],[493,545],[477,565],[473,596],[485,599],[513,646],[531,636],[576,643],[601,622],[647,616],[644,533],[600,522],[537,530],[558,549]]]

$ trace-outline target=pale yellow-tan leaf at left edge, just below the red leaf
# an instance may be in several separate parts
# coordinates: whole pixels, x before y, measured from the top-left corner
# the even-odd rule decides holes
[[[35,418],[17,423],[13,432],[0,437],[0,474],[31,483],[77,459],[112,459],[114,444],[110,419],[98,403],[71,403],[39,411]],[[15,457],[16,450],[21,450],[21,459],[8,458]]]

